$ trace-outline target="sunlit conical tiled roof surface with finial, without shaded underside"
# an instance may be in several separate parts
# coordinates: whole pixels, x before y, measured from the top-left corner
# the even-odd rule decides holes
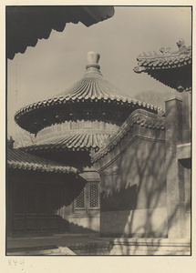
[[[95,58],[97,59],[95,60]],[[113,101],[117,104],[129,104],[132,106],[138,105],[142,106],[143,108],[155,111],[159,109],[157,106],[152,106],[150,104],[146,104],[123,95],[118,88],[111,85],[103,78],[99,71],[98,59],[99,55],[97,53],[88,53],[88,65],[86,66],[87,70],[85,76],[82,79],[77,81],[76,84],[58,96],[50,97],[43,101],[38,101],[34,104],[19,109],[15,113],[16,123],[19,123],[20,116],[24,116],[26,113],[33,112],[37,109],[43,109],[48,106],[60,106],[85,101],[103,101],[108,103]]]

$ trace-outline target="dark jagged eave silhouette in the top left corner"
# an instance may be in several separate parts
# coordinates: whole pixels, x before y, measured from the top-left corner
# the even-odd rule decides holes
[[[47,39],[54,29],[62,32],[67,23],[97,24],[114,15],[113,6],[6,6],[7,57],[25,53],[38,39]]]

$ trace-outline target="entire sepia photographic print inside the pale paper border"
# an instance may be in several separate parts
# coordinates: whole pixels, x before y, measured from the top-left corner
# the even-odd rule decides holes
[[[5,6],[5,256],[191,257],[192,45],[191,5]]]

